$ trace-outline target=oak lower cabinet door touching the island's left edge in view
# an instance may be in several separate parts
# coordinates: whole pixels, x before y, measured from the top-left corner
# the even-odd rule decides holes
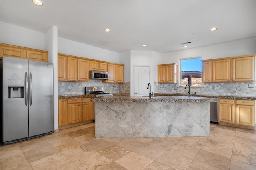
[[[94,120],[94,102],[84,102],[82,108],[82,121]]]

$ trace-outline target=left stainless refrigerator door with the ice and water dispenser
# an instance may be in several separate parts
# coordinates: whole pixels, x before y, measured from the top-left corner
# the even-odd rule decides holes
[[[25,80],[28,60],[3,57],[2,62],[3,142],[6,142],[28,137],[28,106],[25,105],[24,94],[20,98],[10,98],[10,93],[16,93],[18,89],[8,87],[8,80]]]

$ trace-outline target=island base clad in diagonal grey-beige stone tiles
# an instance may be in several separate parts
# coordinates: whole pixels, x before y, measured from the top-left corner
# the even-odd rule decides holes
[[[210,135],[209,102],[95,102],[95,137]]]

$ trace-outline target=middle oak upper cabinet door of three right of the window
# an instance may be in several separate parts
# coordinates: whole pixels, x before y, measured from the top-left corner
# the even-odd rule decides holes
[[[230,82],[231,59],[212,61],[212,82]]]

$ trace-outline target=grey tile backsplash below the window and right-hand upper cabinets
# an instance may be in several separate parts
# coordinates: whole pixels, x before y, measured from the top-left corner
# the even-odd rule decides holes
[[[249,84],[253,84],[249,88]],[[177,87],[174,90],[174,87]],[[215,87],[215,90],[213,90]],[[239,89],[240,90],[237,90]],[[256,96],[256,81],[254,82],[232,82],[232,83],[204,83],[202,87],[190,87],[190,92],[196,94],[211,95],[236,95],[236,96]],[[163,84],[154,82],[154,93],[188,93],[188,88],[178,86],[178,84]]]

